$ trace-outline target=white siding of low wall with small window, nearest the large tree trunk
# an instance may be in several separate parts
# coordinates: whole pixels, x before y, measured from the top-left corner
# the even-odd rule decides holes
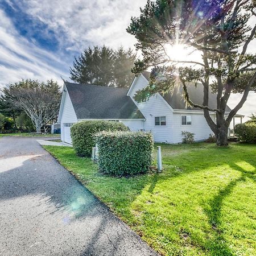
[[[191,125],[181,125],[181,115],[191,116]],[[214,114],[211,114],[212,119],[215,121]],[[189,131],[190,133],[195,133],[195,141],[204,141],[209,138],[209,134],[213,134],[212,130],[207,124],[203,113],[174,113],[173,122],[173,142],[180,143],[183,136],[181,131]]]

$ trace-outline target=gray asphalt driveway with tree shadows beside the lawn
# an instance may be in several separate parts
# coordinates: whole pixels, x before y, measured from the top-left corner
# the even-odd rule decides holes
[[[157,255],[36,138],[0,138],[0,255]]]

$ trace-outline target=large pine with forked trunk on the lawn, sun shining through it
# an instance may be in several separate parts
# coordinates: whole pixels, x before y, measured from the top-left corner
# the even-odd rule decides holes
[[[167,92],[180,82],[188,105],[204,111],[217,144],[228,144],[228,127],[232,118],[246,101],[250,90],[255,90],[256,55],[248,53],[255,40],[255,1],[251,0],[156,0],[148,1],[141,15],[132,18],[127,32],[137,38],[137,49],[143,60],[135,63],[134,73],[154,67],[148,88],[137,94],[137,100],[156,92]],[[250,26],[251,24],[251,26]],[[174,58],[170,47],[185,46],[200,53],[200,59]],[[180,55],[183,55],[180,52]],[[191,55],[191,56],[192,56]],[[177,54],[175,54],[177,56]],[[202,104],[189,98],[188,86],[200,81],[204,87]],[[208,97],[216,90],[216,108],[210,108]],[[242,93],[237,106],[226,115],[231,93]],[[210,113],[216,113],[216,123]]]

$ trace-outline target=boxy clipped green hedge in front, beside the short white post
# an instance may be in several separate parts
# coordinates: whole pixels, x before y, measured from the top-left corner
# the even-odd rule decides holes
[[[151,133],[103,131],[96,134],[99,170],[109,175],[136,175],[148,171],[152,162]]]

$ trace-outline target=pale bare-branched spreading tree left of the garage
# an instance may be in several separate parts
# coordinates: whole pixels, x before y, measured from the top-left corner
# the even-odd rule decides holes
[[[1,100],[3,104],[9,104],[10,108],[25,112],[31,118],[36,132],[40,133],[42,126],[57,117],[60,97],[57,82],[22,80],[3,88]]]

